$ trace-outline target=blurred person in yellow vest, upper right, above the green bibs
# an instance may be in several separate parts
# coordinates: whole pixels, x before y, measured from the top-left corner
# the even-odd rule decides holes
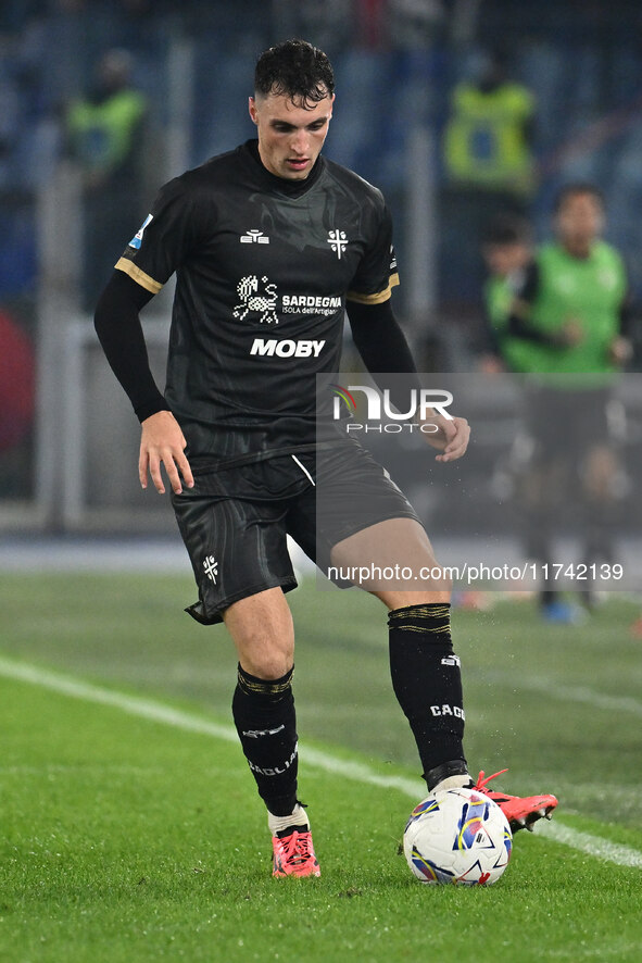
[[[536,187],[534,115],[533,95],[508,78],[499,51],[483,54],[474,76],[452,91],[442,142],[442,300],[475,300],[483,230],[500,213],[527,214]]]

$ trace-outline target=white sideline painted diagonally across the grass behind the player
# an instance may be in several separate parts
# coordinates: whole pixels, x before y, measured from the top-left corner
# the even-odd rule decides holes
[[[236,729],[232,726],[209,722],[207,720],[200,718],[198,715],[191,715],[189,712],[173,709],[171,705],[165,705],[151,699],[127,696],[125,692],[118,692],[117,690],[103,689],[91,683],[84,683],[72,676],[40,668],[28,662],[13,662],[10,659],[0,656],[0,675],[18,681],[30,683],[34,686],[40,686],[43,689],[70,696],[72,699],[81,699],[100,705],[111,705],[130,715],[137,715],[151,722],[163,723],[185,731],[212,736],[214,739],[222,739],[225,742],[236,743],[238,741]],[[354,779],[357,783],[364,783],[369,786],[379,786],[383,789],[396,789],[414,801],[426,796],[426,784],[419,779],[410,779],[403,776],[382,776],[363,763],[338,759],[311,747],[305,748],[303,762],[335,776],[344,776],[347,779]],[[600,836],[592,836],[590,833],[571,829],[570,826],[565,826],[559,822],[546,825],[546,836],[554,839],[555,842],[569,846],[600,860],[617,863],[619,866],[642,870],[642,852],[631,847],[610,842],[607,839],[602,839]]]

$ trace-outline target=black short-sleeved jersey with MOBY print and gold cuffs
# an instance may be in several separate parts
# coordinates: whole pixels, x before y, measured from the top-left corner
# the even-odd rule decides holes
[[[345,299],[399,283],[379,190],[323,157],[276,177],[256,143],[165,185],[116,264],[153,293],[176,272],[165,398],[197,467],[313,443]]]

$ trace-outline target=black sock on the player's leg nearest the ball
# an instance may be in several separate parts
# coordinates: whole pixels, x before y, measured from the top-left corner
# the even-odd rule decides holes
[[[417,742],[424,777],[444,763],[466,772],[460,660],[449,604],[406,605],[389,613],[392,688]]]

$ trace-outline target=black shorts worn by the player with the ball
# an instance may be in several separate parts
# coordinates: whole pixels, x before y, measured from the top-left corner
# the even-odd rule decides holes
[[[199,588],[186,611],[203,625],[222,622],[239,599],[297,587],[287,535],[327,571],[332,547],[350,535],[387,518],[419,522],[388,472],[352,442],[199,474],[172,502]]]

